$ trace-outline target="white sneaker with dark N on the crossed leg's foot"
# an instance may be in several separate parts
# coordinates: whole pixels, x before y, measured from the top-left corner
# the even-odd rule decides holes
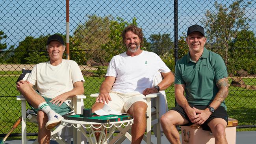
[[[52,129],[56,127],[58,124],[61,123],[61,119],[63,119],[61,115],[52,111],[50,111],[47,114],[47,116],[48,116],[48,122],[45,125],[46,129]]]

